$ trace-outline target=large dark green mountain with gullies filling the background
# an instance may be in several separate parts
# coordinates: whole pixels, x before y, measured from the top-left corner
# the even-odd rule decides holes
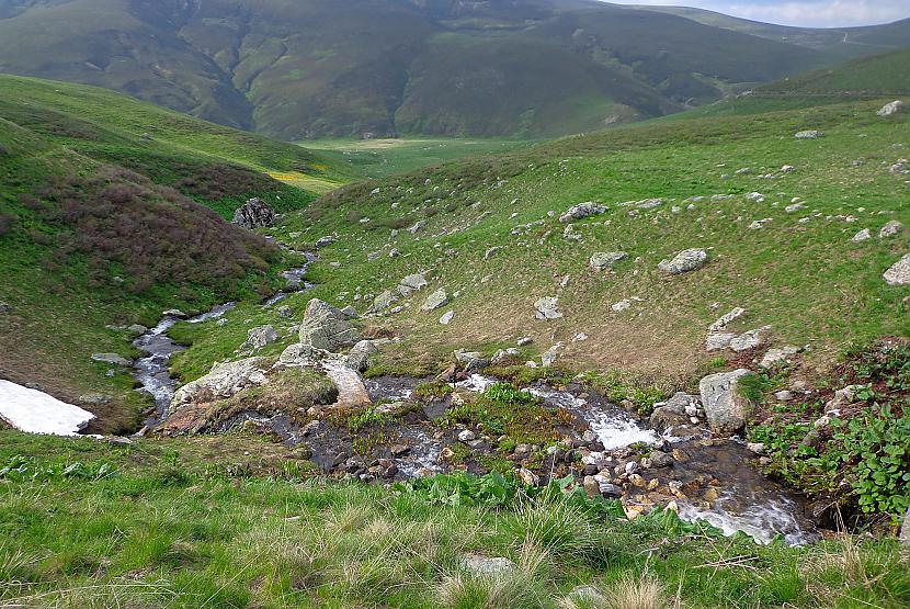
[[[578,133],[829,63],[583,0],[0,0],[0,71],[288,140]]]

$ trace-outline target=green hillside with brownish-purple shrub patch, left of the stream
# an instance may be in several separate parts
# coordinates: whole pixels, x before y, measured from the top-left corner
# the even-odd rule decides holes
[[[254,195],[280,211],[315,198],[268,172],[341,176],[297,146],[83,86],[0,77],[0,375],[106,395],[105,430],[140,405],[125,371],[90,360],[133,354],[105,326],[269,290],[277,248],[224,217]]]

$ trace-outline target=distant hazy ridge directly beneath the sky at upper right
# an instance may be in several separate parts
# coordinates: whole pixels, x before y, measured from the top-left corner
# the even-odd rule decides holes
[[[883,25],[856,27],[794,27],[739,19],[689,7],[642,5],[639,8],[683,16],[705,25],[750,34],[770,41],[814,48],[842,58],[896,50],[910,45],[910,19]]]

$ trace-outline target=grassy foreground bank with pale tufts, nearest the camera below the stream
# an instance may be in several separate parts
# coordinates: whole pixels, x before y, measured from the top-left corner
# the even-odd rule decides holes
[[[15,455],[33,460],[20,462],[22,474],[3,472]],[[600,511],[604,504],[539,497],[496,504],[479,486],[437,483],[428,494],[306,481],[298,459],[246,436],[115,447],[0,430],[0,602],[80,609],[910,602],[906,559],[894,540],[759,546],[680,526],[671,515],[629,522]],[[75,463],[81,466],[62,474]],[[103,475],[105,464],[113,475]],[[465,552],[511,557],[519,566],[471,577],[459,566]],[[569,598],[588,584],[607,599]]]

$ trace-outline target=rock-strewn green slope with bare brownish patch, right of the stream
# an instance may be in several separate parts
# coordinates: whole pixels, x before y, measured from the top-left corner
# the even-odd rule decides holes
[[[541,351],[566,342],[566,356],[579,368],[689,375],[709,359],[703,350],[708,324],[733,306],[749,309],[733,329],[773,325],[776,345],[809,343],[814,362],[828,361],[854,340],[907,336],[908,289],[889,287],[880,275],[910,249],[910,236],[850,240],[861,228],[877,232],[888,219],[910,224],[907,180],[888,171],[906,157],[910,124],[906,114],[878,119],[879,106],[876,101],[640,125],[348,187],[289,216],[277,232],[300,245],[326,234],[341,236],[312,268],[319,285],[288,303],[303,311],[307,298],[318,296],[363,311],[371,295],[431,269],[431,290],[458,292],[446,307],[455,311],[450,326],[436,323],[445,309],[418,311],[423,295],[405,303],[400,315],[377,322],[400,332],[401,346],[386,357],[406,370],[417,362],[434,365],[455,348],[494,349],[530,335]],[[794,139],[804,128],[827,135]],[[853,160],[862,165],[853,167]],[[796,171],[774,180],[759,177],[785,163]],[[753,171],[721,177],[740,168]],[[379,193],[371,194],[376,188]],[[765,193],[766,201],[741,196],[751,191]],[[689,196],[715,193],[737,196],[670,213]],[[616,205],[651,196],[668,201],[637,217]],[[786,213],[794,196],[803,198],[806,208]],[[565,239],[565,225],[547,217],[592,200],[611,211],[576,223],[581,241]],[[478,222],[485,213],[489,216]],[[841,219],[848,215],[857,219]],[[773,221],[764,229],[747,228],[765,217]],[[801,217],[811,219],[800,224]],[[542,218],[528,237],[510,235]],[[419,219],[428,224],[417,238],[403,230],[391,237],[393,227]],[[288,232],[303,235],[294,239]],[[485,260],[492,246],[503,249]],[[391,247],[402,256],[386,256]],[[710,263],[675,278],[658,272],[661,259],[689,247],[712,248]],[[615,273],[588,268],[593,252],[613,250],[629,253]],[[367,262],[372,251],[384,256]],[[561,289],[566,275],[570,281]],[[535,320],[534,301],[557,294],[565,318]],[[611,311],[632,297],[641,301],[622,313]],[[243,307],[230,317],[252,325],[272,320]],[[205,359],[230,353],[244,330],[231,331],[206,336],[198,328],[196,351],[178,359],[181,369],[193,376]],[[578,332],[589,339],[572,342]]]

